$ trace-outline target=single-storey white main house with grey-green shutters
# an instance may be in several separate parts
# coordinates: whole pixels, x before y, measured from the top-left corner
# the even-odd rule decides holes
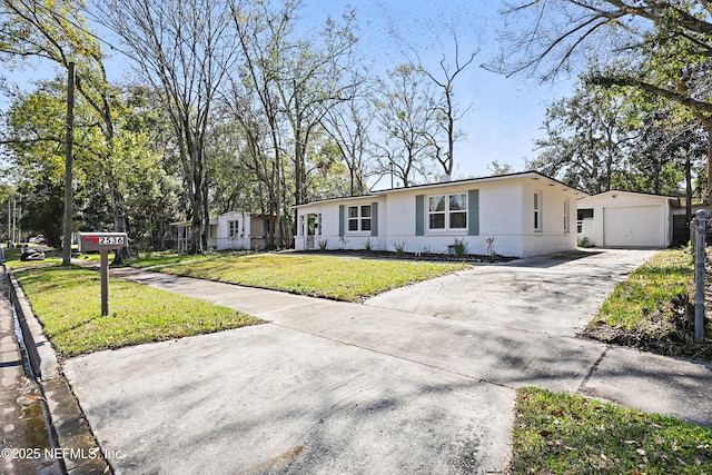
[[[373,191],[297,206],[295,247],[526,257],[576,248],[576,199],[535,171]]]

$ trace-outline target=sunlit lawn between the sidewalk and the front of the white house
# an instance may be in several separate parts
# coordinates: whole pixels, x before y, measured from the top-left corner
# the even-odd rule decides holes
[[[159,270],[344,301],[469,268],[464,264],[257,254],[184,263]]]

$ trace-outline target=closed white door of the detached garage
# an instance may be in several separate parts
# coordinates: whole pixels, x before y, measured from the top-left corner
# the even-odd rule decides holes
[[[603,245],[610,247],[664,247],[660,205],[603,208]]]

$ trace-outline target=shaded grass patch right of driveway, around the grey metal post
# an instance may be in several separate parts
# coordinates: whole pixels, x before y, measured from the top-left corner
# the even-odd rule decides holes
[[[710,318],[705,342],[694,342],[693,275],[689,251],[660,251],[616,286],[584,335],[664,356],[712,360]]]

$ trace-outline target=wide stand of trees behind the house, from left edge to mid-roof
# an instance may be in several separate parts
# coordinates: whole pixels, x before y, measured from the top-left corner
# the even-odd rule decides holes
[[[162,248],[171,221],[190,220],[206,250],[209,217],[274,216],[269,245],[290,244],[291,207],[360,195],[378,177],[411,186],[452,174],[453,96],[475,50],[439,69],[405,58],[369,72],[353,10],[318,31],[299,28],[300,0],[1,0],[0,59],[57,77],[19,89],[2,78],[6,199],[23,228],[59,245],[66,69],[77,65],[75,228],[128,231]],[[91,19],[91,22],[88,19]],[[99,30],[99,28],[101,28]],[[105,31],[102,34],[98,31]],[[130,79],[111,83],[110,46]],[[452,67],[451,67],[452,61]]]

